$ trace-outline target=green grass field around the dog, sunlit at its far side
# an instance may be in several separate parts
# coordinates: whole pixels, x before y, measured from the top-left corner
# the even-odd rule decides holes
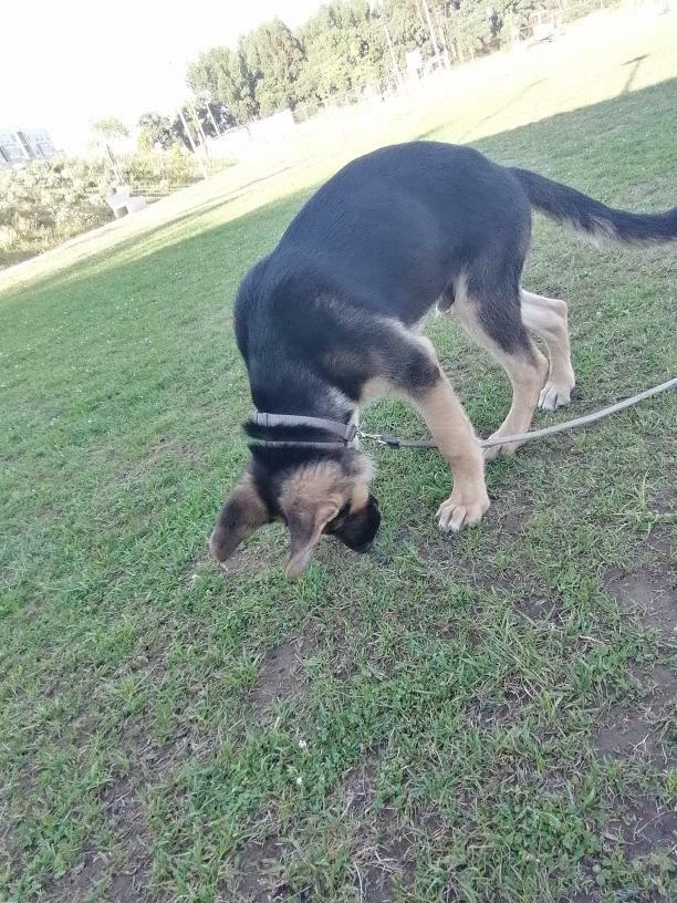
[[[281,529],[206,553],[247,458],[233,292],[344,158],[471,141],[676,201],[677,20],[601,21],[0,277],[1,901],[677,899],[673,396],[489,465],[458,537],[439,457],[376,452],[371,556],[326,541],[290,584]],[[675,374],[676,276],[538,221],[574,413]],[[502,374],[428,333],[489,432]],[[365,425],[423,432],[399,403]]]

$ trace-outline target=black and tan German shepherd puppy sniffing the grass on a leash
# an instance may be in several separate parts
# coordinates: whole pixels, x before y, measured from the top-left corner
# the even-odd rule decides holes
[[[485,460],[433,344],[418,324],[436,304],[503,366],[512,405],[493,438],[525,433],[537,405],[570,402],[564,301],[524,290],[531,211],[593,239],[652,245],[677,238],[677,207],[612,209],[525,169],[437,142],[383,147],[333,176],[296,215],[277,248],[244,277],[235,330],[257,409],[244,425],[249,464],[210,539],[225,561],[259,527],[290,532],[289,579],[308,568],[322,534],[369,549],[378,504],[356,442],[360,405],[399,396],[423,415],[452,471],[439,507],[444,531],[489,508]],[[544,340],[548,359],[530,333]]]

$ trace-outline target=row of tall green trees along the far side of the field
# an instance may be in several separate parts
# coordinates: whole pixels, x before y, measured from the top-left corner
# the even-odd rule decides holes
[[[147,113],[139,126],[149,146],[190,147],[187,131],[199,144],[284,107],[317,105],[396,79],[415,50],[424,63],[437,58],[446,65],[489,53],[523,33],[534,12],[562,10],[566,2],[331,0],[295,31],[273,19],[240,37],[235,50],[205,50],[186,73],[195,104],[174,118]],[[581,2],[592,9],[600,0],[573,0]]]

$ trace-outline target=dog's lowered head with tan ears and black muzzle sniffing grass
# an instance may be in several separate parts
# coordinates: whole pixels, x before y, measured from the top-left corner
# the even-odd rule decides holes
[[[283,521],[290,533],[290,580],[308,568],[323,533],[366,552],[381,523],[369,491],[369,460],[355,449],[252,449],[252,459],[221,508],[209,547],[226,561],[264,523]]]

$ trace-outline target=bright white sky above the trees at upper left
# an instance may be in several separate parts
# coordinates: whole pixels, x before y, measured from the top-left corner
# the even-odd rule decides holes
[[[44,126],[77,150],[91,120],[128,126],[188,95],[186,64],[201,50],[278,15],[295,28],[322,0],[33,0],[0,11],[0,126]]]

